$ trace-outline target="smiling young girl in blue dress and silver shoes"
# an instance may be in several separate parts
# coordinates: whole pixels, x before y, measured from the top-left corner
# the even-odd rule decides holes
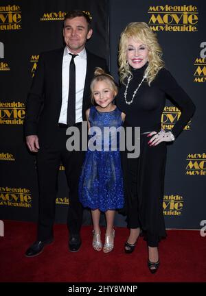
[[[92,106],[86,111],[89,130],[95,129],[89,138],[89,149],[86,153],[82,174],[80,175],[79,197],[84,207],[91,208],[93,220],[93,248],[102,249],[100,232],[100,212],[105,212],[106,234],[103,251],[113,250],[115,230],[113,221],[115,210],[123,208],[123,178],[119,154],[119,140],[116,151],[111,151],[112,137],[104,137],[104,127],[118,128],[122,125],[125,114],[114,104],[117,86],[111,75],[104,73],[101,68],[95,70],[91,82]],[[95,134],[95,142],[93,142]],[[117,134],[116,134],[117,135]],[[98,144],[93,149],[92,144]],[[107,147],[107,149],[104,149]]]

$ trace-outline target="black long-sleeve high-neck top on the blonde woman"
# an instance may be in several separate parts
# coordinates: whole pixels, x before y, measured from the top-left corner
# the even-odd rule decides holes
[[[131,69],[133,79],[128,84],[127,101],[131,101],[134,91],[144,76],[146,66],[147,64],[141,69]],[[190,121],[195,111],[194,103],[190,97],[165,68],[159,71],[150,86],[146,80],[141,84],[130,105],[125,102],[125,90],[126,86],[122,84],[116,97],[117,107],[126,114],[127,125],[141,127],[141,132],[151,132],[155,130],[155,127],[161,127],[161,114],[165,106],[166,95],[181,110],[181,116],[172,128],[175,138]]]

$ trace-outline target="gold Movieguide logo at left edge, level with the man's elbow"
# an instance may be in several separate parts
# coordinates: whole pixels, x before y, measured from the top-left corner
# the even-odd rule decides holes
[[[25,118],[25,104],[22,102],[0,101],[0,124],[23,125]]]

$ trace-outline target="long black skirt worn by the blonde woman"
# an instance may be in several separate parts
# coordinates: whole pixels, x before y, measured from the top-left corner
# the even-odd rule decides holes
[[[148,128],[148,132],[153,130]],[[141,129],[141,132],[146,131]],[[167,147],[165,142],[150,147],[150,138],[148,134],[140,135],[139,158],[128,158],[130,151],[127,149],[121,153],[126,201],[124,212],[128,227],[140,227],[148,245],[157,247],[159,240],[166,236],[163,193]]]

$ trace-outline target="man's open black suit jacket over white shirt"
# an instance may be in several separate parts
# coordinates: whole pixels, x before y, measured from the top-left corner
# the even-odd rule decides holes
[[[40,145],[54,140],[62,103],[62,59],[64,49],[41,53],[32,87],[27,97],[24,123],[25,136],[38,135]],[[106,60],[87,50],[87,72],[82,102],[82,119],[91,106],[90,83],[95,67],[107,71]]]

